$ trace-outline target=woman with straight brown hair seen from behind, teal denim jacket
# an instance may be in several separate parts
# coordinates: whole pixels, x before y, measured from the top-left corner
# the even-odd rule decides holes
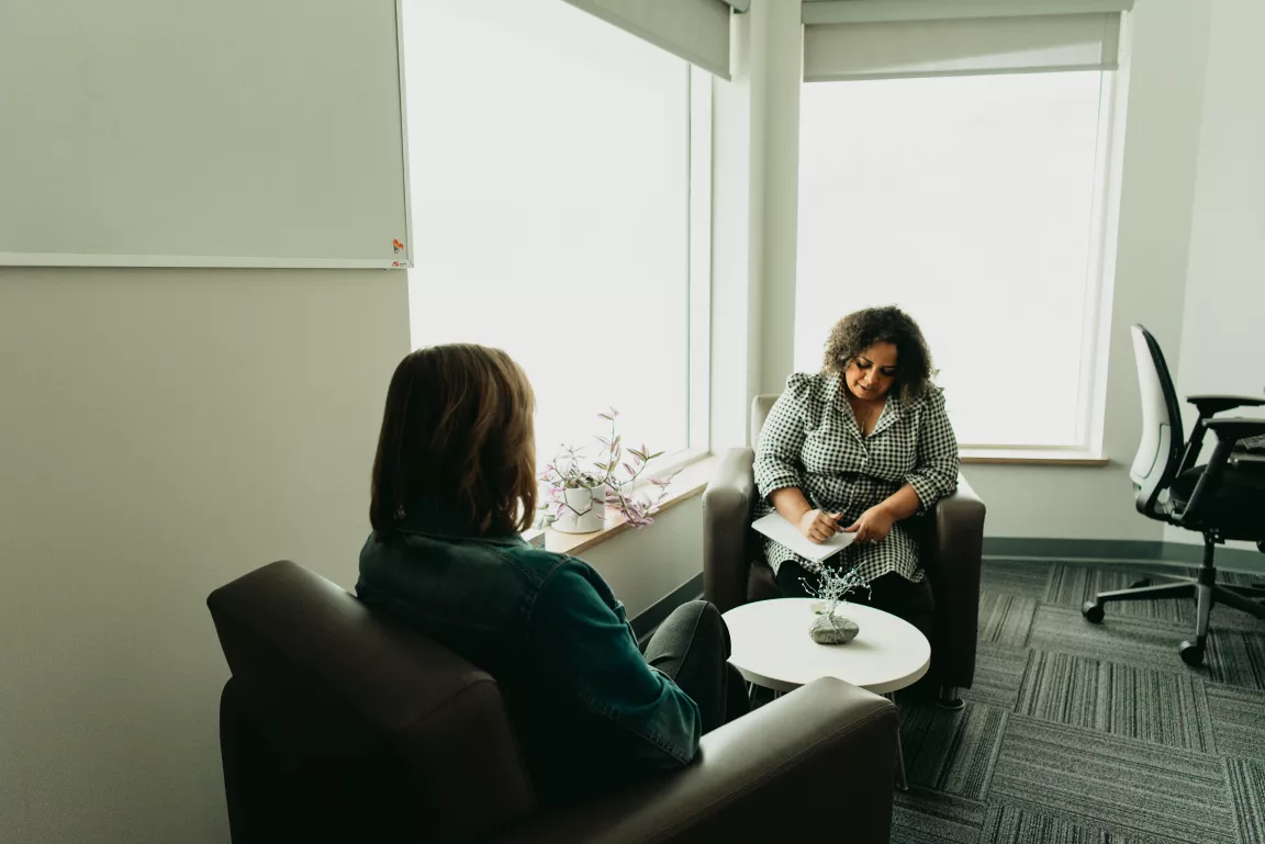
[[[355,589],[496,677],[541,800],[562,804],[687,764],[746,697],[715,606],[674,610],[643,657],[591,566],[521,538],[536,509],[534,406],[498,349],[431,346],[400,363]]]

